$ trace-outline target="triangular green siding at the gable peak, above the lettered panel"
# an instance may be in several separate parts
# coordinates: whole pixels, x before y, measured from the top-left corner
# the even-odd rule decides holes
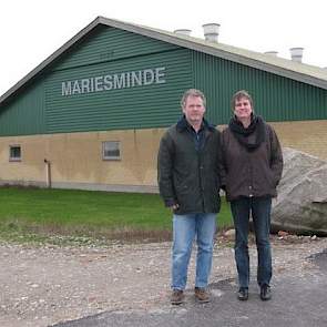
[[[72,47],[70,53],[65,54],[64,61],[53,69],[84,67],[174,49],[178,47],[115,28],[99,25],[83,42]]]

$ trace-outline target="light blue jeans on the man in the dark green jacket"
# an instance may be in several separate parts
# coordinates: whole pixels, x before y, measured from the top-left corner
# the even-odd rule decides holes
[[[187,214],[173,216],[172,288],[185,289],[187,267],[196,237],[195,287],[206,287],[212,268],[216,214]]]

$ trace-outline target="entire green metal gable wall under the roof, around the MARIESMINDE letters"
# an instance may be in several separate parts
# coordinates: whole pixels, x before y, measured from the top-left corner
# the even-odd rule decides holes
[[[164,83],[62,95],[62,82],[164,68]],[[184,90],[207,96],[207,117],[227,123],[229,100],[248,90],[267,121],[327,119],[327,91],[246,65],[100,25],[0,113],[0,135],[167,126]]]

